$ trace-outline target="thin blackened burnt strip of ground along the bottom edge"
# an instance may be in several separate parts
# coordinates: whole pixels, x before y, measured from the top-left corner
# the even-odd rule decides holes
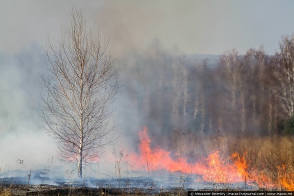
[[[154,190],[150,188],[88,188],[53,185],[1,184],[3,195],[187,195],[188,190]]]

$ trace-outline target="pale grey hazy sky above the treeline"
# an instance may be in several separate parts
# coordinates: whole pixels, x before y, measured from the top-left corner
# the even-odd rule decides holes
[[[87,24],[110,37],[116,53],[158,39],[184,53],[245,53],[264,45],[274,53],[282,35],[294,32],[289,1],[0,1],[0,51],[17,53],[47,37],[58,39],[81,8]]]

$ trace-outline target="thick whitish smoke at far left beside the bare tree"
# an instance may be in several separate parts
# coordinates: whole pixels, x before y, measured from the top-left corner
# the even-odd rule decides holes
[[[15,55],[0,56],[0,160],[2,171],[17,169],[17,159],[37,168],[55,155],[54,141],[42,130],[38,98],[42,48],[31,45]]]

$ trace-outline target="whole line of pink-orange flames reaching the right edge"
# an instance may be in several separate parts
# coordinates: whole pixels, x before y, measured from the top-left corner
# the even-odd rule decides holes
[[[260,188],[277,188],[278,182],[268,177],[263,168],[250,167],[246,161],[246,152],[242,155],[234,152],[225,156],[219,151],[211,152],[201,161],[191,163],[178,154],[172,154],[162,148],[151,148],[148,129],[139,132],[139,154],[130,154],[129,159],[135,170],[167,170],[169,172],[180,171],[185,174],[199,175],[196,181],[207,181],[214,183],[237,183],[257,184]],[[174,158],[175,157],[175,158]],[[285,166],[278,167],[279,186],[284,190],[294,190],[294,175],[285,172]]]

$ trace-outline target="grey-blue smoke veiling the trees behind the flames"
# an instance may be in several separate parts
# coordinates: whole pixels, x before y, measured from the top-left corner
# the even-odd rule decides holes
[[[176,48],[164,51],[155,41],[118,62],[124,84],[121,130],[137,143],[135,133],[147,126],[152,145],[192,157],[205,154],[207,145],[227,145],[203,139],[286,133],[289,97],[279,94],[285,84],[277,59],[262,48],[246,55],[184,55]]]

